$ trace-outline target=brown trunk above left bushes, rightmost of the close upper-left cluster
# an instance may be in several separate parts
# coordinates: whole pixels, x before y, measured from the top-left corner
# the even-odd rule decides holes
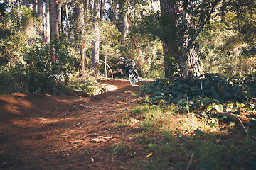
[[[50,46],[52,48],[52,62],[55,62],[55,54],[53,52],[54,44],[52,41],[58,38],[58,36],[58,6],[56,0],[50,0]]]

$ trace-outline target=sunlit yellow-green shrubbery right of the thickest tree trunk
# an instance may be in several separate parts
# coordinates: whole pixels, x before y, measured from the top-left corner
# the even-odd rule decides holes
[[[196,48],[205,72],[242,77],[255,71],[255,23],[243,17],[240,22],[238,28],[238,15],[228,12],[223,18],[215,16],[200,33]]]

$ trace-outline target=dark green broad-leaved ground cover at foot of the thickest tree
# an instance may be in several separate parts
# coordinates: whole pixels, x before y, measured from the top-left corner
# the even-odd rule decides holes
[[[231,80],[220,74],[205,74],[197,79],[156,79],[144,84],[141,93],[151,94],[152,103],[179,103],[181,101],[242,102],[255,95],[255,77],[242,81]],[[250,95],[249,95],[250,94]]]

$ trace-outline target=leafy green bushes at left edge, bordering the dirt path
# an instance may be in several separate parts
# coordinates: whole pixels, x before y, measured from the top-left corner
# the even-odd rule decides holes
[[[65,39],[55,42],[55,62],[51,60],[50,46],[38,39],[24,49],[22,62],[2,66],[0,87],[6,91],[61,94],[73,71],[73,58]]]

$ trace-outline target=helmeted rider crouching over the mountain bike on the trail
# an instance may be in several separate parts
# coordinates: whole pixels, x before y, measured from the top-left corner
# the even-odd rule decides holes
[[[131,69],[132,69],[132,72],[134,72],[134,74],[135,74],[134,76],[137,77],[139,81],[142,81],[142,78],[139,77],[137,70],[134,68],[134,66],[135,66],[134,60],[124,60],[124,57],[120,57],[119,62],[117,63],[119,72],[121,74],[124,74],[124,72],[127,73],[129,66],[131,66],[131,64],[129,64],[130,62],[132,62]]]

